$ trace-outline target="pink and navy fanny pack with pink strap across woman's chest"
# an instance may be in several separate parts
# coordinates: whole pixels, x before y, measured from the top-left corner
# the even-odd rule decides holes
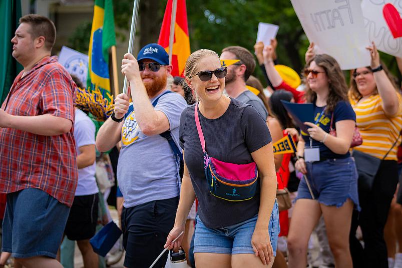
[[[205,139],[198,117],[198,103],[194,118],[204,152],[204,172],[212,195],[228,201],[244,201],[254,197],[258,188],[258,170],[255,162],[233,164],[220,161],[205,151]]]

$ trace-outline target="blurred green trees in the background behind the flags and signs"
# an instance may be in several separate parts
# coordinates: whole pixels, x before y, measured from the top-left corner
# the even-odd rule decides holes
[[[137,31],[140,44],[158,40],[167,0],[140,1],[139,25],[146,24],[152,33]],[[277,55],[280,64],[300,72],[304,65],[304,53],[308,40],[289,0],[187,0],[187,16],[191,50],[201,48],[220,54],[227,46],[237,45],[254,51],[258,22],[279,25]],[[133,0],[114,1],[117,40],[128,42],[125,31],[129,30]],[[144,21],[145,20],[145,21]],[[91,21],[79,26],[70,38],[70,46],[88,53]],[[381,53],[381,59],[391,72],[401,80],[395,59]],[[262,79],[259,68],[256,75]],[[348,72],[345,72],[348,76]]]

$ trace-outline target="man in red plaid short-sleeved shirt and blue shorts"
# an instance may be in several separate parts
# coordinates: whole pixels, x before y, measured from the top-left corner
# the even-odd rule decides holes
[[[2,251],[27,268],[63,267],[55,257],[77,186],[75,84],[50,57],[55,39],[49,19],[20,19],[11,42],[24,70],[0,109]]]

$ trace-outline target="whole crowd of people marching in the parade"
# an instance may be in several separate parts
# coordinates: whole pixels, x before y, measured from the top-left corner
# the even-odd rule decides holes
[[[301,83],[276,40],[197,50],[183,77],[148,44],[124,56],[129,92],[94,124],[55,39],[27,15],[11,40],[24,70],[0,109],[0,267],[73,267],[74,241],[84,267],[105,266],[90,239],[110,204],[129,268],[164,267],[180,246],[191,267],[402,267],[401,87],[374,43],[348,82],[311,43]],[[312,104],[313,122],[283,103]],[[284,137],[296,150],[274,154]]]

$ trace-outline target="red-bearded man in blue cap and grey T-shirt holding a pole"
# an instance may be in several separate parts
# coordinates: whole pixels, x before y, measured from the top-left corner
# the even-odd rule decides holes
[[[174,149],[179,148],[180,115],[187,103],[166,89],[171,71],[169,56],[158,44],[146,45],[137,59],[126,54],[122,72],[130,82],[133,102],[126,94],[118,95],[114,113],[96,138],[102,152],[122,141],[117,178],[124,197],[124,266],[129,268],[148,268],[156,259],[179,202],[180,161]],[[155,267],[163,267],[166,258],[167,253]]]

